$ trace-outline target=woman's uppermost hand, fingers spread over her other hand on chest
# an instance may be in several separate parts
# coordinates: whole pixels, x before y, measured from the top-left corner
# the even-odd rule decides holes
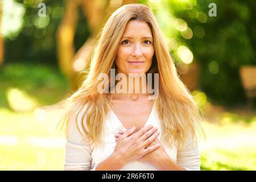
[[[139,159],[142,156],[156,150],[160,144],[149,146],[159,134],[155,134],[157,130],[152,125],[145,126],[141,130],[135,131],[135,127],[123,131],[122,135],[118,136],[117,144],[113,154],[122,156],[125,163]]]

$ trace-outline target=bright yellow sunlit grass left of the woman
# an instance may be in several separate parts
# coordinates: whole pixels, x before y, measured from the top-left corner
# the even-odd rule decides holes
[[[62,170],[64,133],[56,128],[57,117],[51,112],[40,118],[1,108],[0,170]],[[17,142],[3,143],[10,137]]]

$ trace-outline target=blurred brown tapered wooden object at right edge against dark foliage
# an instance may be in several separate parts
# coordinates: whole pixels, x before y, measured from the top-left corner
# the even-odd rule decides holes
[[[243,88],[250,108],[253,106],[253,98],[256,97],[256,66],[241,67],[240,76]]]

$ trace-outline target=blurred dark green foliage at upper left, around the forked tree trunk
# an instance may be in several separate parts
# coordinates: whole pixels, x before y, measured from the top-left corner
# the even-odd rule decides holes
[[[5,62],[33,62],[57,65],[56,31],[64,14],[64,1],[44,0],[46,16],[38,16],[39,1],[19,2],[25,9],[23,25],[18,35],[5,39]],[[7,10],[5,10],[7,11]],[[76,51],[88,38],[86,18],[79,9],[79,19],[74,38]]]

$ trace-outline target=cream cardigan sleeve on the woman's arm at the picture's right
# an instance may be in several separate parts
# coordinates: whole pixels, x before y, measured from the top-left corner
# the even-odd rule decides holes
[[[197,134],[192,141],[192,135],[184,145],[177,149],[177,165],[188,171],[200,171],[200,151],[197,143]]]

